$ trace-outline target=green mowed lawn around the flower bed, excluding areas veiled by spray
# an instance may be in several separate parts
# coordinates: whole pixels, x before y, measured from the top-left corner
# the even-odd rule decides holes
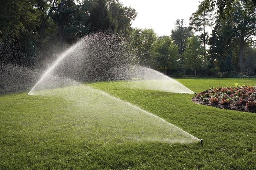
[[[256,79],[177,79],[194,92]],[[0,169],[256,169],[256,114],[194,104],[193,94],[89,84],[135,104],[188,133],[198,143],[98,142],[81,135],[86,118],[64,98],[0,97]]]

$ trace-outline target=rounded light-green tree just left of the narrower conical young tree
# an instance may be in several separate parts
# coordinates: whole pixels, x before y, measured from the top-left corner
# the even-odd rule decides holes
[[[176,67],[178,59],[178,46],[174,43],[170,36],[162,36],[155,42],[157,67],[163,70],[164,74],[168,74],[168,69]]]

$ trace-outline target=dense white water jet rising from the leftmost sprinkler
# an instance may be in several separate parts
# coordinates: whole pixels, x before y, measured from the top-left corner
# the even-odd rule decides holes
[[[60,61],[62,61],[68,53],[70,53],[71,51],[73,51],[77,46],[78,46],[79,42],[74,44],[72,47],[70,47],[69,49],[67,49],[65,52],[63,52],[60,57],[53,63],[53,65],[51,67],[49,67],[45,73],[43,74],[43,76],[37,81],[37,83],[35,84],[35,86],[29,91],[29,93],[27,93],[27,95],[31,95],[32,91],[35,89],[35,87],[60,63]]]

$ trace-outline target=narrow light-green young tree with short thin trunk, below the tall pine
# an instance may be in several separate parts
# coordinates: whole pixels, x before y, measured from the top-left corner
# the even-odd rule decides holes
[[[201,42],[196,36],[188,38],[187,48],[184,52],[185,63],[184,67],[186,69],[194,70],[195,77],[197,77],[197,70],[202,67],[202,55],[203,48],[200,46]]]

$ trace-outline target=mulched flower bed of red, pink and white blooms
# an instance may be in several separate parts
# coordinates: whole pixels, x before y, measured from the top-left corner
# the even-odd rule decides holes
[[[256,112],[256,86],[217,87],[201,92],[192,99],[195,103],[222,109]]]

